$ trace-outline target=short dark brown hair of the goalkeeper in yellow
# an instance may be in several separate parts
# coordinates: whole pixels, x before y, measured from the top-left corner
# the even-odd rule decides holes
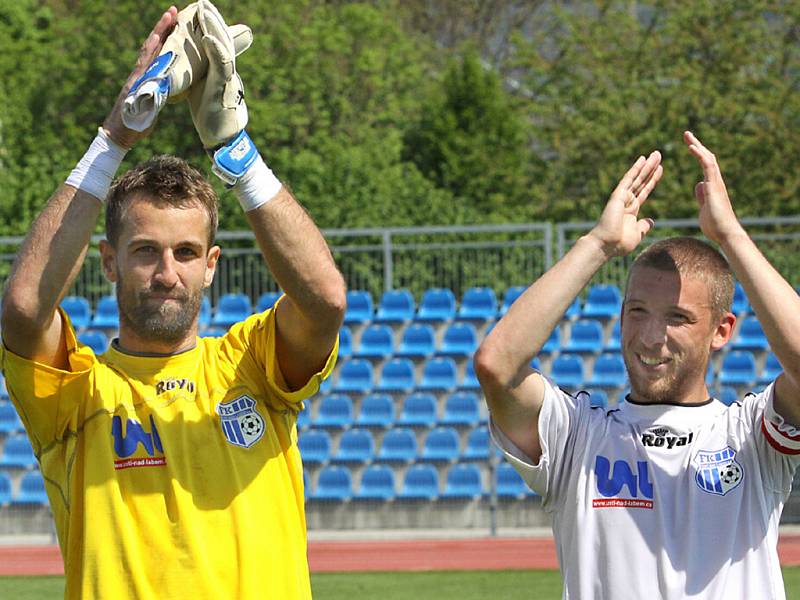
[[[217,235],[217,194],[205,177],[177,156],[162,155],[124,173],[111,186],[106,199],[106,238],[116,247],[130,201],[146,196],[160,206],[200,206],[208,214],[208,246]]]

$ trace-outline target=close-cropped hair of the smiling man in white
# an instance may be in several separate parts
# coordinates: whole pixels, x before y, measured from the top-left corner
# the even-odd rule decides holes
[[[708,299],[714,319],[721,319],[731,310],[733,271],[722,253],[702,240],[679,236],[660,240],[649,246],[633,261],[628,271],[629,283],[631,273],[641,267],[677,271],[680,275],[704,281],[708,286]]]

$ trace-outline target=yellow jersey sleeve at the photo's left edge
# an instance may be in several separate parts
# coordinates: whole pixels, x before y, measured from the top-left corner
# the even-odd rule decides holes
[[[5,344],[0,351],[9,397],[37,455],[42,446],[60,438],[76,423],[77,414],[90,394],[93,366],[97,362],[94,352],[78,343],[69,318],[61,314],[67,346],[66,370],[23,358]]]

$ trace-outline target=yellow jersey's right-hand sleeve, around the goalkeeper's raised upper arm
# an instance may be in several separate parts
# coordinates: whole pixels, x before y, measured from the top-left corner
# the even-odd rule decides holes
[[[254,368],[266,375],[266,386],[274,404],[289,405],[294,410],[300,410],[300,403],[316,394],[322,382],[333,372],[339,352],[339,339],[336,338],[322,369],[314,373],[299,389],[289,390],[276,352],[276,309],[284,299],[285,296],[282,296],[270,310],[234,325],[225,337],[227,343],[240,346]]]

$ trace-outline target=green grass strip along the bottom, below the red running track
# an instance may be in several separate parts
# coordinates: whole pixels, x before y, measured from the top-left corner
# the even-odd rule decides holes
[[[787,598],[800,598],[800,567],[783,570]],[[319,573],[316,600],[559,600],[558,571],[433,571],[425,573]],[[63,577],[0,577],[0,598],[52,600],[64,594]]]

